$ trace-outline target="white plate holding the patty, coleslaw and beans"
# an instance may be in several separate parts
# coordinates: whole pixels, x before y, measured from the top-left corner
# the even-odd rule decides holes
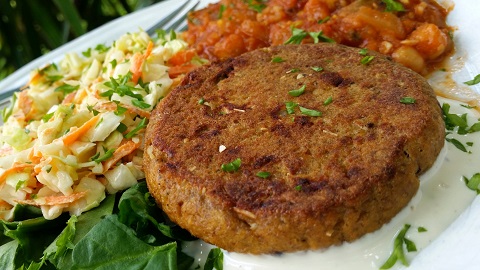
[[[202,8],[210,2],[215,1],[203,0],[198,8]],[[453,4],[453,1],[450,0],[439,2],[445,5]],[[29,73],[32,70],[46,63],[59,61],[65,53],[82,52],[99,43],[109,44],[126,32],[134,32],[139,28],[148,29],[160,17],[169,14],[179,5],[178,0],[168,0],[153,5],[107,23],[63,45],[0,81],[0,95],[9,89],[24,85],[28,81]],[[456,0],[454,5],[454,9],[448,17],[449,25],[457,27],[454,32],[456,53],[450,59],[452,71],[443,75],[437,74],[440,79],[437,78],[433,86],[440,91],[451,90],[445,87],[453,87],[455,92],[463,96],[465,100],[477,99],[480,101],[477,94],[480,93],[480,87],[467,87],[462,83],[471,80],[480,73],[480,35],[478,35],[480,5],[475,0]],[[445,75],[447,77],[451,76],[457,84],[443,83],[441,77]],[[480,151],[478,147],[476,151]],[[480,172],[480,160],[478,163],[478,172]],[[477,196],[471,206],[440,237],[420,252],[408,269],[480,269],[477,259],[479,248],[480,197]],[[292,269],[294,268],[295,266],[292,266]],[[315,269],[315,266],[312,269]]]

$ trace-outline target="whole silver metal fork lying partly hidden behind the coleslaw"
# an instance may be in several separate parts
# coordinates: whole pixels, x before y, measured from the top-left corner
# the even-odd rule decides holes
[[[166,31],[174,30],[175,32],[184,31],[187,28],[187,21],[185,20],[187,14],[194,10],[200,0],[187,0],[185,3],[176,8],[172,13],[158,21],[155,25],[146,30],[150,36],[155,36],[158,29]],[[10,103],[13,93],[22,90],[25,86],[9,89],[0,94],[0,109],[6,107]]]

